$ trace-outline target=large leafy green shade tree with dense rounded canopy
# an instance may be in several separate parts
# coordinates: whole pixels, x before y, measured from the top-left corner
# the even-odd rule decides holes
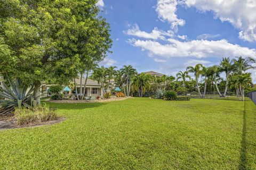
[[[23,82],[34,84],[39,103],[42,81],[68,83],[86,71],[87,58],[103,60],[111,39],[97,2],[0,1],[0,37],[12,56],[12,62],[1,66],[2,74],[19,75]],[[0,57],[3,61],[6,55]]]

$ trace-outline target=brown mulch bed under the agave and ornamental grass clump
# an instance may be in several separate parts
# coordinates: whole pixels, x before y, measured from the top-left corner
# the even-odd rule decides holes
[[[52,125],[55,123],[59,123],[66,120],[64,117],[58,117],[57,120],[54,121],[46,121],[46,122],[40,122],[40,123],[33,123],[29,125],[17,125],[17,120],[13,115],[9,116],[3,116],[0,117],[0,131],[5,130],[5,129],[16,129],[16,128],[32,128],[32,127],[37,127],[37,126],[42,126],[42,125]]]

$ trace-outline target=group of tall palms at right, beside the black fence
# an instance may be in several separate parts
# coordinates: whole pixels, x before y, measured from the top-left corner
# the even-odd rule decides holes
[[[253,66],[254,63],[255,60],[250,57],[236,57],[233,60],[230,60],[229,57],[223,57],[220,65],[205,67],[202,64],[197,64],[194,67],[188,66],[187,72],[194,73],[196,88],[201,97],[205,97],[206,88],[210,86],[210,88],[212,88],[211,91],[216,90],[221,97],[226,97],[228,89],[232,90],[235,88],[238,99],[244,100],[245,88],[253,86],[251,74],[246,73],[246,71],[255,69],[255,66]],[[225,74],[226,80],[221,78],[221,73]],[[177,75],[179,75],[179,78],[182,77],[181,74]],[[200,78],[202,78],[204,82],[203,91],[198,83]],[[225,90],[221,93],[219,87],[223,82],[225,82]]]

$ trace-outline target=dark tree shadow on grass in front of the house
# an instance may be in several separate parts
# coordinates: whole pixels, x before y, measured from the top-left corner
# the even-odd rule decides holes
[[[77,110],[77,109],[85,109],[85,108],[93,108],[93,107],[100,107],[103,105],[107,105],[107,103],[77,103],[77,104],[61,104],[61,103],[51,103],[45,102],[50,108],[56,108],[58,110]]]

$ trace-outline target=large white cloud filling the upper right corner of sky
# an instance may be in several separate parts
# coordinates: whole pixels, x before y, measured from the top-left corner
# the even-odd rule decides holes
[[[216,18],[228,21],[240,30],[239,38],[256,41],[255,0],[186,0],[185,4],[203,12],[213,11]]]

